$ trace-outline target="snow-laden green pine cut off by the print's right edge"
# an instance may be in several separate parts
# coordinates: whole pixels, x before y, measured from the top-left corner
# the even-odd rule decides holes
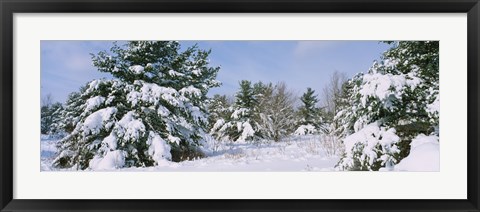
[[[350,104],[336,115],[346,134],[340,169],[392,168],[417,145],[412,141],[438,144],[439,42],[389,43],[380,63],[347,83]]]

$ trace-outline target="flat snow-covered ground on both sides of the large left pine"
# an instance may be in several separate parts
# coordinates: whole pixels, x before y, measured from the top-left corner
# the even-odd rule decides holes
[[[51,167],[58,139],[41,138],[41,170],[60,171]],[[206,158],[116,171],[334,171],[339,160],[330,153],[320,136],[297,136],[282,142],[216,143],[213,146],[215,151],[210,151]]]

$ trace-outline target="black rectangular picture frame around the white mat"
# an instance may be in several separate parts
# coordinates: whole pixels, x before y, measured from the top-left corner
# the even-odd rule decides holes
[[[480,211],[478,0],[0,0],[1,211]],[[25,200],[13,199],[14,13],[467,13],[468,197],[465,200]],[[448,183],[448,182],[445,182]]]

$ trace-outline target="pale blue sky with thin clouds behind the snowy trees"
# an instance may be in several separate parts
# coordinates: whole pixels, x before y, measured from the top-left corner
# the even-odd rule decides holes
[[[220,66],[223,83],[209,95],[233,95],[246,79],[286,82],[301,95],[307,87],[320,94],[334,71],[348,77],[366,72],[389,48],[378,41],[180,41],[211,49],[210,63]],[[64,102],[90,80],[109,78],[92,66],[90,53],[108,50],[112,41],[41,41],[41,95]],[[321,96],[321,95],[319,95]]]

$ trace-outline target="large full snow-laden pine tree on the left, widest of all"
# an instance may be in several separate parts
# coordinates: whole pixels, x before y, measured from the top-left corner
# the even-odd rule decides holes
[[[57,167],[145,167],[201,156],[206,94],[219,85],[209,51],[180,52],[170,41],[124,47],[92,55],[98,70],[114,79],[93,80],[69,97],[65,126],[73,129],[59,143]]]

